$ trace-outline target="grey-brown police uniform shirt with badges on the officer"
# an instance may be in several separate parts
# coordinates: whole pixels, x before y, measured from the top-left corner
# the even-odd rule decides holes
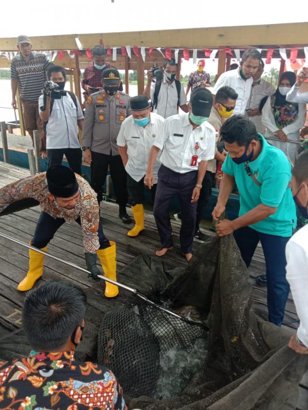
[[[91,94],[82,127],[82,146],[101,154],[119,155],[117,137],[130,114],[130,97],[124,92],[118,91],[111,98],[104,90]]]

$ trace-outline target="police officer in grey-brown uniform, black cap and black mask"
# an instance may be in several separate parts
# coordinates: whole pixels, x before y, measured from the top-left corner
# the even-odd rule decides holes
[[[115,197],[119,204],[119,217],[123,222],[131,223],[131,218],[126,213],[126,172],[117,146],[121,124],[131,114],[130,97],[119,91],[120,81],[117,69],[104,70],[103,90],[88,97],[82,149],[85,161],[91,164],[91,185],[98,194],[98,202],[100,203],[103,198],[103,185],[109,167]]]

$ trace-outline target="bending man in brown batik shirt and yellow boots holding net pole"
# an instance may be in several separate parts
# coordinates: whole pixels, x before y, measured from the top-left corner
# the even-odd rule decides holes
[[[42,212],[30,244],[44,252],[47,244],[63,223],[77,222],[83,233],[83,244],[88,270],[97,277],[96,255],[105,276],[116,278],[115,243],[105,237],[99,218],[95,192],[81,176],[62,165],[51,166],[47,172],[20,179],[0,189],[0,215],[12,202],[33,198]],[[43,274],[44,255],[29,250],[29,271],[18,284],[18,291],[28,291]],[[106,282],[105,296],[114,297],[118,286]]]

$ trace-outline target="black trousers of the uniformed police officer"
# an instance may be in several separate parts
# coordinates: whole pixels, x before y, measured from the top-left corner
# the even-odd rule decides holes
[[[98,202],[103,199],[103,185],[106,181],[108,167],[115,198],[120,206],[124,206],[128,200],[126,186],[126,171],[120,155],[106,155],[93,152],[91,161],[91,187],[98,194]]]

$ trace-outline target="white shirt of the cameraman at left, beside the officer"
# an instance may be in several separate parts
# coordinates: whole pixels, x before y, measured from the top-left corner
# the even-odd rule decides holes
[[[43,106],[43,98],[38,98],[38,109]],[[80,148],[78,139],[78,119],[83,119],[84,115],[78,98],[77,109],[69,93],[60,99],[53,100],[52,111],[46,126],[46,148],[64,149]],[[41,114],[40,110],[40,114]]]

